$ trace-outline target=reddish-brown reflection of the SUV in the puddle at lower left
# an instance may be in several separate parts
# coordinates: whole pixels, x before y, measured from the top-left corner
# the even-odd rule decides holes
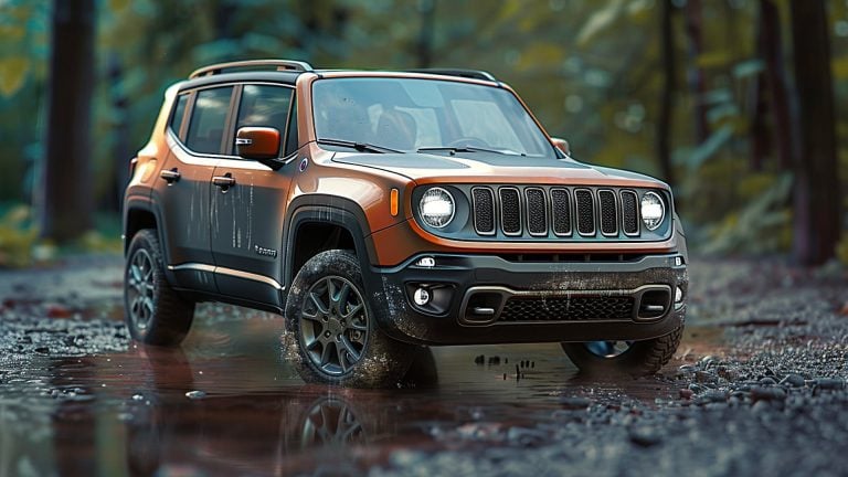
[[[184,353],[140,352],[149,373],[125,421],[132,475],[361,475],[382,458],[368,449],[428,438],[399,417],[395,394],[312,384],[203,394]],[[409,379],[423,384],[433,363],[416,360],[421,378]]]

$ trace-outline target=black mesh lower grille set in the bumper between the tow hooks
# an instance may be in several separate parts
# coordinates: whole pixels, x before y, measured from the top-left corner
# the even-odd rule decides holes
[[[633,297],[511,297],[498,321],[597,321],[633,319]]]

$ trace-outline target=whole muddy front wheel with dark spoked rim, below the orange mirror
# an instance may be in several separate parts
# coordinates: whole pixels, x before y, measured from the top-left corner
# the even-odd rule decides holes
[[[347,251],[317,254],[298,272],[286,300],[286,328],[306,382],[377,388],[395,384],[414,347],[385,336],[374,322],[357,257]]]

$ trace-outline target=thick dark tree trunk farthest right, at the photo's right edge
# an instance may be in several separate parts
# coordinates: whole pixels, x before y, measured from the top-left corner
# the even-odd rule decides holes
[[[792,0],[792,43],[801,151],[794,162],[795,258],[818,265],[833,257],[841,231],[830,44],[824,0]]]

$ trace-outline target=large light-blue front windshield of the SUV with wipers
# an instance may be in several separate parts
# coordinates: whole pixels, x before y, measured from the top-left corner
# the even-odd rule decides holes
[[[457,150],[553,156],[509,91],[416,78],[330,78],[312,85],[315,131],[398,151]]]

